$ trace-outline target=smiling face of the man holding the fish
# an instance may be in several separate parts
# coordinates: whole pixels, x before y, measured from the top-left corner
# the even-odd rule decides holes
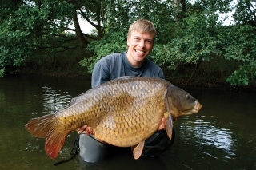
[[[154,34],[140,33],[133,30],[127,38],[127,46],[127,59],[130,65],[139,67],[153,49]]]

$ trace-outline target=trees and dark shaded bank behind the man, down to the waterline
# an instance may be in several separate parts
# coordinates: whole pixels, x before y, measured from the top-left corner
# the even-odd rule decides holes
[[[255,11],[254,0],[1,0],[0,75],[90,75],[101,57],[126,50],[128,27],[146,18],[158,30],[150,59],[166,79],[254,90]],[[94,27],[89,34],[82,20]]]

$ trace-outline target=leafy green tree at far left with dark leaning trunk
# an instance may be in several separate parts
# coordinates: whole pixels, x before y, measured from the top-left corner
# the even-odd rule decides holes
[[[57,53],[78,48],[78,45],[66,44],[70,38],[65,30],[72,30],[69,27],[72,22],[73,31],[85,49],[88,39],[95,38],[82,34],[74,1],[2,1],[1,5],[0,76],[6,66],[22,65],[27,57],[42,50]]]

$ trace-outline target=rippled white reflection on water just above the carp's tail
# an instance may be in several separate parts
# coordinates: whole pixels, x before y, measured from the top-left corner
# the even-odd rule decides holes
[[[69,105],[72,96],[68,92],[63,92],[61,90],[54,90],[51,87],[42,87],[43,96],[43,113],[55,113],[59,110],[66,109]]]

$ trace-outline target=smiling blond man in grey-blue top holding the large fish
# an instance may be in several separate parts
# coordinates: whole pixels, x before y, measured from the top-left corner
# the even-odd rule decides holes
[[[156,30],[153,23],[145,19],[135,21],[128,30],[127,51],[102,57],[94,65],[92,88],[122,76],[164,78],[162,69],[146,58],[153,49],[155,38]],[[157,156],[167,148],[170,148],[174,142],[174,135],[172,140],[169,140],[164,128],[165,120],[162,118],[162,124],[158,128],[158,132],[155,132],[146,140],[142,156]],[[78,129],[78,132],[83,131],[85,131],[86,135],[94,133],[93,129],[86,125]],[[80,138],[80,145],[91,140],[91,137],[86,135],[83,135],[82,139]],[[94,140],[94,142],[97,143],[98,141]],[[97,149],[95,148],[95,152],[102,152],[100,149],[97,151]],[[95,157],[96,159],[94,158],[94,160],[98,161],[97,156]],[[99,157],[102,159],[102,156]],[[91,160],[91,158],[86,158],[85,160],[88,161],[88,159]]]

